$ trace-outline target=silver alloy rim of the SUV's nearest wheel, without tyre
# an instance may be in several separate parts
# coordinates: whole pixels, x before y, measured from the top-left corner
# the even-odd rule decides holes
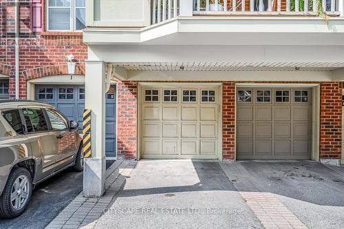
[[[29,179],[25,175],[19,176],[11,189],[11,204],[15,210],[20,210],[28,201],[30,192]]]

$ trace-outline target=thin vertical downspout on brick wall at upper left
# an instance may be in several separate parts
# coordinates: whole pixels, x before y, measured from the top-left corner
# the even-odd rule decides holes
[[[15,65],[15,96],[19,99],[19,0],[15,1],[15,37],[14,37],[14,65]]]

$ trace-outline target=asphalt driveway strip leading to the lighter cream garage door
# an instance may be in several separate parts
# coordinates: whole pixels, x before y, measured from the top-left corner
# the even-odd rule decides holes
[[[96,228],[262,228],[218,162],[141,160]]]

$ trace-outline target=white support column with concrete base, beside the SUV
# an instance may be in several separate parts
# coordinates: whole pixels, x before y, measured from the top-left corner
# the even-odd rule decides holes
[[[105,192],[105,63],[86,61],[85,109],[91,109],[92,157],[85,158],[83,194],[101,197]]]

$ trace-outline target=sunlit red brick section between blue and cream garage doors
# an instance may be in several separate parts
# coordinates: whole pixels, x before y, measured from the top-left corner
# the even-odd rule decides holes
[[[117,83],[117,155],[137,158],[138,83]]]

